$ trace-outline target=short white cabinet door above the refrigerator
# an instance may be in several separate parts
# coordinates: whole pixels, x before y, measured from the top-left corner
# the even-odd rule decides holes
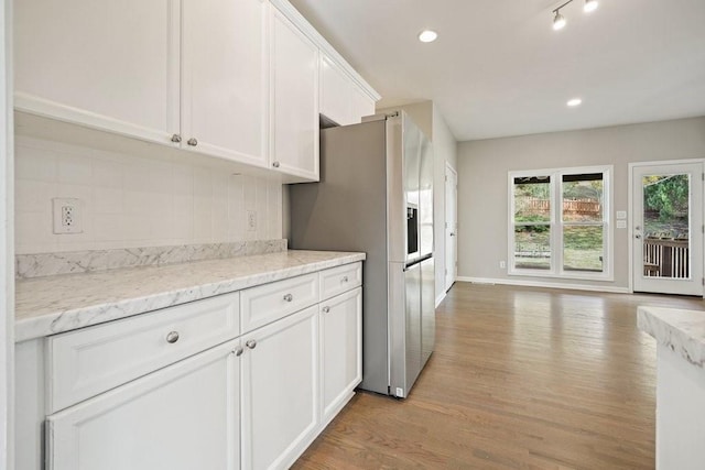
[[[352,83],[329,57],[321,56],[321,113],[340,125],[355,121]],[[357,120],[359,122],[359,119]]]

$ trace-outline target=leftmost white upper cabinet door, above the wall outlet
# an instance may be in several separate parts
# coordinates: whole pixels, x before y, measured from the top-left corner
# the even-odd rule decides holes
[[[15,108],[169,142],[178,21],[177,0],[14,2]]]

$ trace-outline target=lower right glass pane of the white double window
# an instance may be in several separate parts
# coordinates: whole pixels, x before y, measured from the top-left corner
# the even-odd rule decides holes
[[[563,270],[603,272],[603,226],[563,227]]]

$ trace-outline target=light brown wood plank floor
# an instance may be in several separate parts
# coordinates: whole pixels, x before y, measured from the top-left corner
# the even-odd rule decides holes
[[[654,468],[655,342],[688,297],[457,283],[405,401],[358,393],[294,469]]]

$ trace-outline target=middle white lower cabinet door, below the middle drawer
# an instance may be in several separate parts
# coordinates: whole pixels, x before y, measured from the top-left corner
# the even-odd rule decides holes
[[[315,437],[317,320],[313,306],[242,338],[242,468],[286,468]]]

